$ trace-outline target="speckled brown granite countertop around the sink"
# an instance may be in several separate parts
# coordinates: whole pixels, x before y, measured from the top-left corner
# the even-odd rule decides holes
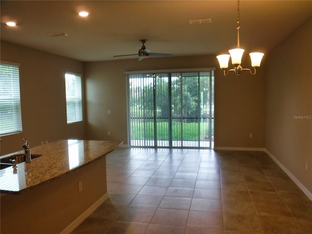
[[[58,140],[31,148],[31,154],[40,154],[31,163],[17,164],[0,170],[0,190],[4,194],[20,194],[81,168],[112,152],[122,142],[99,140]],[[1,156],[5,158],[23,151]]]

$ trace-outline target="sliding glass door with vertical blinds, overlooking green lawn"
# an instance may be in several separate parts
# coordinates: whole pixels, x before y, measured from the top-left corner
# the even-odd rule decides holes
[[[128,74],[131,147],[213,148],[214,71]]]

